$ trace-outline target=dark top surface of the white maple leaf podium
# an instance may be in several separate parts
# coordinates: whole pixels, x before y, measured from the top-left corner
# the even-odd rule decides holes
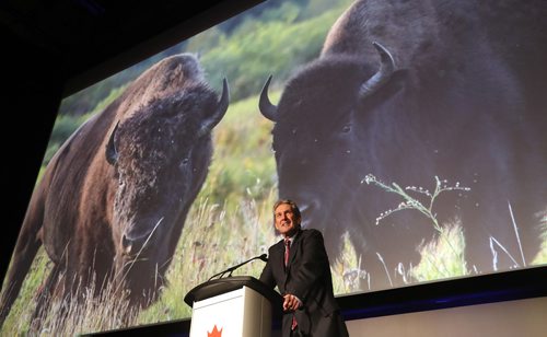
[[[272,304],[278,302],[282,303],[282,298],[278,292],[268,288],[261,281],[252,276],[234,276],[203,282],[188,291],[188,293],[184,297],[184,302],[186,302],[189,306],[194,306],[194,302],[202,301],[243,287],[256,290]]]

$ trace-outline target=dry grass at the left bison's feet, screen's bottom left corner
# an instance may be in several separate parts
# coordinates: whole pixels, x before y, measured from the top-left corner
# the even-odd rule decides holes
[[[2,336],[74,336],[138,323],[139,310],[130,307],[127,300],[120,299],[113,283],[98,284],[94,279],[89,287],[78,287],[69,298],[53,298],[49,307],[34,316],[40,284],[46,280],[50,267],[45,252],[39,252],[2,326]],[[98,297],[95,297],[97,288]]]

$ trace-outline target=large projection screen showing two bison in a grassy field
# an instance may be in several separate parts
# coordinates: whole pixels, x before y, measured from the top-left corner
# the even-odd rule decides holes
[[[278,198],[323,232],[337,295],[545,265],[545,18],[266,1],[67,96],[1,334],[187,318],[190,289],[280,240]]]

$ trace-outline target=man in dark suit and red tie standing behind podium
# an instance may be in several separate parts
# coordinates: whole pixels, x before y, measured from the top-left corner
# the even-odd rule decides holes
[[[302,217],[291,200],[276,202],[274,219],[283,240],[269,248],[260,280],[277,286],[283,295],[282,336],[348,336],[333,293],[323,234],[300,228]]]

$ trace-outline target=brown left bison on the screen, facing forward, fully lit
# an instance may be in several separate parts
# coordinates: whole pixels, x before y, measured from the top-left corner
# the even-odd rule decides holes
[[[113,281],[130,305],[158,298],[212,155],[211,130],[229,105],[190,54],[167,57],[90,118],[36,187],[1,302],[1,322],[44,245],[54,263],[35,316],[51,295]],[[101,291],[97,287],[96,291]]]

